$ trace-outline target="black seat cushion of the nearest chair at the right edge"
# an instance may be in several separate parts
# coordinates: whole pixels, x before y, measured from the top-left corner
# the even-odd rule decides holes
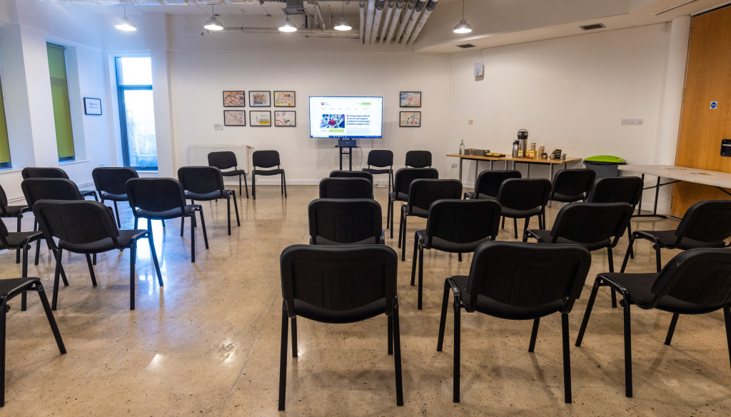
[[[620,274],[618,272],[605,272],[599,274],[612,282],[626,288],[629,292],[629,299],[633,304],[642,308],[650,304],[655,295],[651,292],[652,285],[657,278],[657,273],[651,274]],[[723,306],[708,307],[691,304],[671,296],[664,296],[660,299],[656,309],[679,314],[705,314],[720,309]]]

